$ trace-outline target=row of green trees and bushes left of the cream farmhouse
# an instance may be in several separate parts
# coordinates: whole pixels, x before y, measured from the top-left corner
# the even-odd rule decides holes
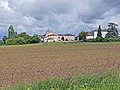
[[[2,40],[0,40],[0,45],[20,45],[20,44],[33,44],[39,43],[40,37],[37,34],[30,36],[26,32],[21,32],[18,34],[14,31],[12,25],[8,28],[8,36],[3,36]]]

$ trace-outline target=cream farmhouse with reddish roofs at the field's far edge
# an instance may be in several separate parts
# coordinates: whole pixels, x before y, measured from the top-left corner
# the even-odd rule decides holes
[[[43,36],[44,42],[61,42],[61,41],[74,41],[75,35],[72,34],[57,34],[50,30],[47,30],[45,35]]]

